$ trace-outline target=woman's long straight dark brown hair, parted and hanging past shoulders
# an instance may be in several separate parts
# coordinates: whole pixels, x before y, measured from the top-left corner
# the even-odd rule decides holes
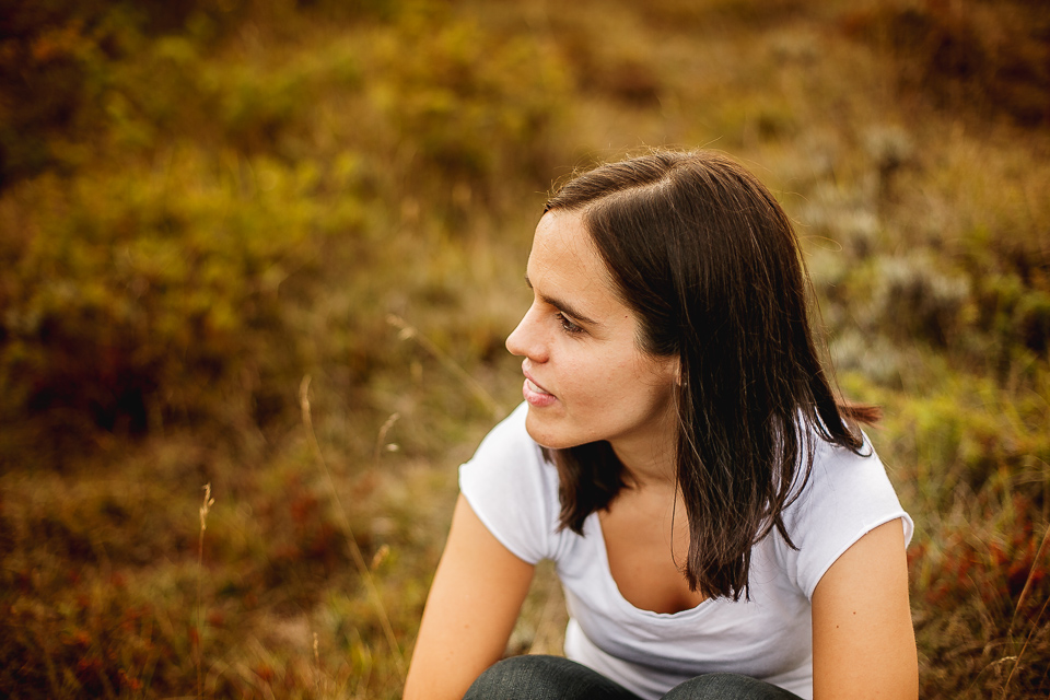
[[[775,529],[809,478],[820,439],[863,450],[854,420],[877,409],[837,400],[814,342],[810,290],[794,230],[769,190],[713,151],[660,151],[600,165],[546,211],[581,214],[640,348],[677,357],[677,488],[689,522],[685,575],[710,597],[746,595],[751,547]],[[547,451],[561,526],[625,488],[606,442]]]

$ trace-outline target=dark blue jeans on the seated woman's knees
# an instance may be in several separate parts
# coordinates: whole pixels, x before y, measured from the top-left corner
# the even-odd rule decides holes
[[[512,656],[478,676],[463,700],[640,700],[602,674],[561,656]],[[664,700],[800,700],[768,682],[705,674],[672,688]]]

